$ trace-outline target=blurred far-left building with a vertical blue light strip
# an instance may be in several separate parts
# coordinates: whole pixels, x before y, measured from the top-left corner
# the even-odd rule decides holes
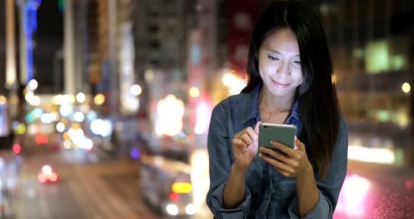
[[[36,79],[37,93],[61,92],[62,72],[55,70],[55,64],[59,63],[54,62],[62,50],[62,11],[58,1],[42,4],[41,0],[8,0],[1,1],[0,8],[0,81],[7,81],[0,86],[0,91],[6,92],[5,86],[11,89]],[[6,37],[6,28],[12,39]],[[7,55],[6,50],[11,47],[13,55]],[[13,58],[13,67],[5,65],[10,63],[10,58]],[[8,81],[11,76],[6,77],[9,73],[5,74],[10,69],[14,74],[12,84]]]

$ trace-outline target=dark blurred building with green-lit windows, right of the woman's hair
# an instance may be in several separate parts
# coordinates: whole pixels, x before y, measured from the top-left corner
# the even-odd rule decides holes
[[[349,123],[350,159],[414,166],[413,1],[313,2]]]

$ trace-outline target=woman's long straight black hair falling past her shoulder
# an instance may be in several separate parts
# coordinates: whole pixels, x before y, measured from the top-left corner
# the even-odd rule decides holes
[[[248,53],[248,84],[241,93],[262,82],[258,68],[260,46],[279,29],[292,29],[298,39],[302,84],[298,86],[298,110],[303,128],[299,139],[319,178],[325,178],[338,135],[340,108],[326,34],[316,11],[300,1],[276,1],[262,11],[256,23]]]

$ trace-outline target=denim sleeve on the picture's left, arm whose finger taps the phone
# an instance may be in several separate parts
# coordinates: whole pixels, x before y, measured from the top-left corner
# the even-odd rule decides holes
[[[208,129],[208,156],[210,166],[210,189],[206,202],[214,218],[248,218],[248,209],[251,205],[251,192],[245,187],[245,200],[237,208],[223,208],[223,192],[229,173],[232,170],[231,145],[228,134],[228,114],[225,102],[214,107]]]

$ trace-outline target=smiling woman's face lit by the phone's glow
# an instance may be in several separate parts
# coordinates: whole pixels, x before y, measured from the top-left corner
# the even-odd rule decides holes
[[[302,83],[298,40],[291,29],[280,29],[263,41],[259,51],[259,72],[272,95],[295,95]]]

